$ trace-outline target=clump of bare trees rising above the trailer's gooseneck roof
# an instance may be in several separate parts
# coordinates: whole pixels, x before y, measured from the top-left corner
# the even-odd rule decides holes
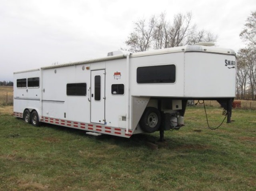
[[[161,13],[158,17],[152,16],[146,25],[146,20],[135,22],[134,32],[130,33],[125,41],[129,51],[146,51],[149,48],[162,49],[197,42],[215,42],[217,36],[207,31],[196,30],[192,23],[192,13],[185,15],[179,13],[174,16],[173,22],[166,19],[166,14]]]

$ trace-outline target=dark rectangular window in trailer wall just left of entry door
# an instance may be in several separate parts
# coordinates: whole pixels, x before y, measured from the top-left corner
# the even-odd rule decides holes
[[[67,96],[86,96],[86,83],[67,83]]]

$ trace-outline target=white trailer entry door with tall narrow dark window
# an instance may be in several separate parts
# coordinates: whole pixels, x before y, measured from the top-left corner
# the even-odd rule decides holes
[[[105,124],[105,70],[91,71],[91,122]]]

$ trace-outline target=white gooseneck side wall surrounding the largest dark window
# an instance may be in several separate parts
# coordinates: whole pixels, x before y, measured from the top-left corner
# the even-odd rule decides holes
[[[175,83],[148,83],[138,84],[137,68],[144,66],[168,65],[176,66]],[[131,57],[131,95],[132,96],[159,96],[159,97],[182,97],[184,94],[184,53],[168,53],[147,57]]]

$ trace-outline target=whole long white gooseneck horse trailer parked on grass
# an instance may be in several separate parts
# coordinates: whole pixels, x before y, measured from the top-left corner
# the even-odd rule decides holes
[[[231,122],[236,54],[187,45],[14,73],[13,115],[129,138],[184,125],[188,100],[217,100]]]

